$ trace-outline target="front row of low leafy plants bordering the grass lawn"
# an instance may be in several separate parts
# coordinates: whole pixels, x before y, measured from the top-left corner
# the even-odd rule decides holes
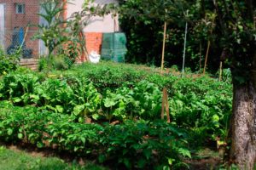
[[[80,156],[97,154],[100,162],[118,161],[113,167],[175,167],[182,157],[190,157],[186,133],[165,122],[101,126],[32,106],[14,107],[8,102],[0,106],[0,138],[6,141],[55,146]]]

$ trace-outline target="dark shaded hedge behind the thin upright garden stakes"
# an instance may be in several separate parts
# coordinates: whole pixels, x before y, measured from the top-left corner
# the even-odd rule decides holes
[[[204,31],[199,31],[199,27],[196,26],[198,20],[201,20],[199,17],[201,6],[198,3],[200,2],[159,0],[150,2],[129,0],[121,3],[119,20],[128,40],[128,53],[125,58],[129,62],[160,65],[163,25],[166,21],[166,66],[181,66],[183,31],[185,22],[189,21],[186,65],[195,71],[199,66],[200,42],[202,42],[202,50],[207,48],[204,42],[207,35],[204,31],[208,32],[209,27],[201,27]],[[189,10],[189,16],[186,16],[186,10]],[[210,61],[212,61],[211,58]]]

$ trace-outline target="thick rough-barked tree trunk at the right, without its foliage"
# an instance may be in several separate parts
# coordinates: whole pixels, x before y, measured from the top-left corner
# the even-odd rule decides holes
[[[253,82],[234,84],[230,161],[241,170],[253,170],[256,162],[256,90]]]

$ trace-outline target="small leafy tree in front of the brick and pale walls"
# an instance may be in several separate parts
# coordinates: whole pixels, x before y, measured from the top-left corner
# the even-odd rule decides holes
[[[53,53],[55,48],[65,42],[67,42],[67,44],[71,43],[71,48],[79,48],[79,51],[82,54],[87,53],[83,33],[84,26],[89,24],[92,16],[103,16],[105,14],[109,14],[110,11],[113,11],[115,8],[113,4],[101,6],[92,5],[93,2],[93,0],[85,0],[82,11],[75,12],[70,16],[70,18],[63,20],[61,14],[66,10],[64,6],[66,3],[69,3],[68,1],[42,1],[41,7],[43,8],[44,13],[40,13],[38,15],[46,21],[46,25],[38,25],[39,31],[35,37],[41,39],[49,49],[48,56]],[[71,50],[74,50],[73,52],[76,53],[76,49]],[[61,51],[63,52],[63,50]]]

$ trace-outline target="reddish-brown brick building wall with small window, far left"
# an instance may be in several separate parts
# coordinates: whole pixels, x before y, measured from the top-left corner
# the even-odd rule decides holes
[[[37,25],[39,21],[38,0],[0,0],[5,4],[5,48],[11,44],[15,27],[23,27],[26,31],[28,24]],[[25,14],[16,14],[15,3],[25,4]],[[32,36],[37,31],[35,26],[30,26],[26,35],[26,48],[32,48],[32,55],[38,56],[38,41],[32,41]]]

